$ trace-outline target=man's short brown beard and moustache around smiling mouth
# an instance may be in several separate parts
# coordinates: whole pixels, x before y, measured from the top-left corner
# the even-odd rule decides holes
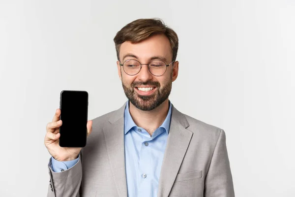
[[[143,111],[150,111],[162,104],[166,99],[168,99],[171,89],[172,89],[172,75],[170,75],[170,80],[164,84],[163,87],[157,81],[147,81],[147,82],[133,82],[130,86],[126,86],[122,80],[122,86],[124,93],[129,101],[138,109]],[[150,85],[156,87],[155,92],[152,95],[139,95],[134,89],[135,87],[141,85]]]

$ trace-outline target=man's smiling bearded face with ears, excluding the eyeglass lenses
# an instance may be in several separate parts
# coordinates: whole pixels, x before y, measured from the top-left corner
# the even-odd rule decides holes
[[[120,62],[134,59],[141,64],[149,64],[151,58],[158,57],[167,65],[172,62],[171,45],[164,34],[153,35],[148,39],[132,44],[129,41],[123,42],[120,46]],[[165,74],[154,76],[148,70],[148,65],[142,65],[140,72],[136,75],[128,75],[122,66],[118,66],[118,75],[122,81],[122,86],[126,97],[140,110],[149,111],[168,99],[172,82],[176,80],[178,74],[178,61],[167,67]]]

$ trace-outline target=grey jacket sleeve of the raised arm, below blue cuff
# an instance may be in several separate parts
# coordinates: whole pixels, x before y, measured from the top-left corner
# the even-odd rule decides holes
[[[80,197],[82,182],[82,151],[79,153],[78,162],[71,168],[54,172],[48,164],[50,176],[47,197]]]

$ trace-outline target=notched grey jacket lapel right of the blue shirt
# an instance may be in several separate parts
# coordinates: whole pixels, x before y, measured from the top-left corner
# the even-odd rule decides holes
[[[169,135],[159,179],[158,197],[168,197],[174,184],[193,134],[185,129],[188,126],[184,115],[172,106]]]

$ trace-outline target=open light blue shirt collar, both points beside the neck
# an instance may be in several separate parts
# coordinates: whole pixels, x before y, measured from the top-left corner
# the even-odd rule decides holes
[[[169,100],[169,110],[168,114],[166,116],[166,119],[162,123],[160,127],[164,128],[169,134],[169,129],[170,129],[170,121],[171,121],[171,114],[172,114],[172,104]],[[125,112],[124,112],[124,134],[126,134],[128,131],[130,131],[133,127],[137,127],[137,125],[134,123],[130,112],[129,112],[129,100],[126,102],[126,107],[125,107]]]

